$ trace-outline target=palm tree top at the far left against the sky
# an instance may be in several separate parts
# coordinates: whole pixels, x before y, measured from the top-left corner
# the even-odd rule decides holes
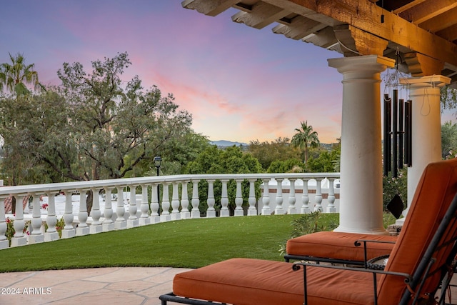
[[[0,91],[6,86],[6,90],[16,92],[16,96],[29,94],[26,85],[34,86],[34,90],[44,89],[38,81],[38,73],[34,71],[35,64],[25,64],[24,55],[18,53],[12,56],[9,53],[11,64],[0,64]]]

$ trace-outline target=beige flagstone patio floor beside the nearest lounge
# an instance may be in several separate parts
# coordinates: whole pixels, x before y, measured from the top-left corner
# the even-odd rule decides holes
[[[159,296],[171,291],[173,276],[186,270],[114,267],[4,273],[0,304],[160,305]],[[451,295],[452,304],[457,304],[457,287]]]

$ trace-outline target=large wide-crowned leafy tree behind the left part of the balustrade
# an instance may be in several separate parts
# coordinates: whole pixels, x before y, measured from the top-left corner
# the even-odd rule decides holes
[[[17,123],[4,124],[1,135],[24,139],[18,146],[6,136],[11,156],[45,166],[53,180],[73,181],[144,174],[154,156],[182,161],[190,153],[181,147],[173,159],[173,149],[198,139],[189,150],[195,157],[206,138],[192,131],[191,114],[179,111],[174,96],[162,96],[156,86],[144,90],[138,76],[124,83],[121,74],[130,64],[126,53],[93,61],[91,74],[79,63],[65,63],[58,72],[60,86],[2,107],[0,120]],[[91,194],[87,203],[90,212]]]

